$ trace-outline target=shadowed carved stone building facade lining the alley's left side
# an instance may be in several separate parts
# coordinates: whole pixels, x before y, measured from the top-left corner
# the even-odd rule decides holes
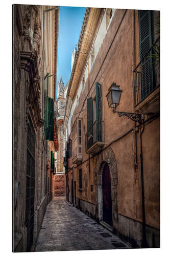
[[[55,9],[48,11],[51,8]],[[48,142],[44,136],[43,79],[47,72],[56,73],[58,20],[55,6],[13,5],[14,252],[34,249],[46,205],[54,196],[48,145],[54,151],[57,141]],[[54,77],[49,77],[48,89],[55,99]]]

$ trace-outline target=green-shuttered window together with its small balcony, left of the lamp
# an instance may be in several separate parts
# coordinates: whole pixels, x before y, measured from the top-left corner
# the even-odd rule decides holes
[[[85,136],[87,154],[98,153],[104,146],[104,125],[102,121],[102,85],[99,82],[96,82],[95,86],[95,98],[92,99],[92,97],[90,97],[87,99],[87,134]]]

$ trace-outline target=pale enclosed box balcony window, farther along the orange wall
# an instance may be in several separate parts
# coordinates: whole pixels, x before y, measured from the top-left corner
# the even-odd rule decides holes
[[[77,118],[72,127],[72,163],[79,164],[83,158],[83,121]]]

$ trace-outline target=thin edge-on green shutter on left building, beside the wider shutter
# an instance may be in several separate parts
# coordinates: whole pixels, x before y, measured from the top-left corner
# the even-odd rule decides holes
[[[48,127],[48,76],[49,73],[44,78],[44,130]]]

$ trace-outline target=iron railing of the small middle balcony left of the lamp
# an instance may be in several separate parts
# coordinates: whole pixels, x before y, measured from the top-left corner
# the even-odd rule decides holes
[[[97,141],[104,142],[104,121],[95,121],[85,135],[86,151]]]

